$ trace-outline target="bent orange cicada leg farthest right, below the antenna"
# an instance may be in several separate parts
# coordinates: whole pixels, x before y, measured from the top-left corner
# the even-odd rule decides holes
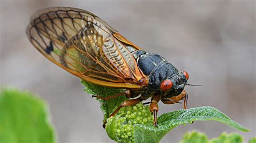
[[[161,102],[163,102],[164,104],[174,104],[174,103],[180,103],[179,101],[184,99],[183,109],[187,109],[187,98],[188,98],[188,95],[186,91],[183,90],[180,95],[173,96],[170,98],[163,98],[161,99]]]

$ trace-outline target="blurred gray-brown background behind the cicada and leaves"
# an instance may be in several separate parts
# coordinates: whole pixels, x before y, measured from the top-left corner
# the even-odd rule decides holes
[[[255,1],[32,1],[1,0],[1,87],[29,90],[50,105],[59,142],[113,142],[102,128],[98,101],[79,78],[44,58],[25,35],[33,12],[72,6],[95,13],[127,39],[190,74],[188,107],[214,106],[251,132],[216,121],[180,125],[161,142],[178,142],[191,130],[209,138],[255,125]],[[160,113],[182,104],[160,103]]]

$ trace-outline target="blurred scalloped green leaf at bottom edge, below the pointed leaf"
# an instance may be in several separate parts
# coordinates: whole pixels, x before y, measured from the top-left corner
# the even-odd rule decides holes
[[[180,143],[242,143],[243,140],[242,136],[238,133],[222,133],[218,138],[208,140],[205,133],[192,131],[185,133]]]

